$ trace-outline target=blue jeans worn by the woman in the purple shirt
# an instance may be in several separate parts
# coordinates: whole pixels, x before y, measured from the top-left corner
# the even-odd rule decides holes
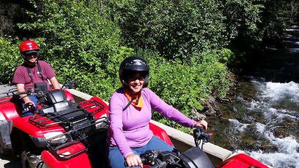
[[[157,138],[156,136],[152,136],[152,138],[145,146],[139,148],[131,148],[131,149],[136,155],[144,154],[146,151],[149,150],[163,150],[163,151],[176,150],[174,149],[174,147],[166,144],[164,141]],[[123,155],[121,154],[120,150],[116,146],[108,148],[108,160],[112,168],[126,168],[124,165],[125,160],[123,158]],[[140,167],[134,167],[134,168],[140,168]]]

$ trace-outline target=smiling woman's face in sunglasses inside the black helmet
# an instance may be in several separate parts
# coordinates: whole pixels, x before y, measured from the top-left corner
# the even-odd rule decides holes
[[[143,76],[142,73],[140,72],[133,73],[128,77],[129,88],[133,93],[137,94],[142,89],[144,81],[145,81],[145,77]]]

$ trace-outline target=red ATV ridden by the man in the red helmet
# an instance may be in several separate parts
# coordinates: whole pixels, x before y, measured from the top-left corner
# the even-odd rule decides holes
[[[65,90],[71,87],[72,83],[66,83],[62,90],[50,90],[46,94],[40,89],[26,92],[12,89],[0,93],[0,96],[4,95],[0,97],[0,154],[12,152],[15,158],[21,159],[23,168],[42,167],[42,151],[65,144],[84,144],[83,136],[107,129],[107,104],[98,97],[75,103],[71,93]],[[34,115],[21,117],[17,95],[25,93],[38,95],[44,101]],[[84,152],[79,151],[73,156]]]

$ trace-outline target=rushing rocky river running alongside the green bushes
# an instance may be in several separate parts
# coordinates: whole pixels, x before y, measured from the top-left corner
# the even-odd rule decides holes
[[[212,142],[274,168],[299,168],[299,26],[248,70],[231,103],[221,104]]]

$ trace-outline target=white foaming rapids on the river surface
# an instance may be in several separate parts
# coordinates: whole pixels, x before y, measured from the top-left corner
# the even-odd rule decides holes
[[[231,130],[233,132],[246,131],[250,125],[253,125],[256,134],[269,140],[271,144],[278,147],[277,152],[265,153],[259,151],[236,151],[237,153],[246,153],[251,157],[261,161],[264,164],[274,168],[299,168],[299,143],[293,135],[287,137],[276,137],[273,129],[280,127],[282,122],[299,122],[299,111],[290,109],[276,109],[282,101],[285,103],[297,104],[299,107],[299,84],[290,83],[272,83],[261,82],[260,80],[251,81],[257,88],[257,98],[259,101],[252,100],[248,104],[249,111],[262,111],[264,122],[241,123],[237,119],[229,119]],[[248,130],[247,130],[248,131]],[[252,130],[251,130],[252,131]]]

